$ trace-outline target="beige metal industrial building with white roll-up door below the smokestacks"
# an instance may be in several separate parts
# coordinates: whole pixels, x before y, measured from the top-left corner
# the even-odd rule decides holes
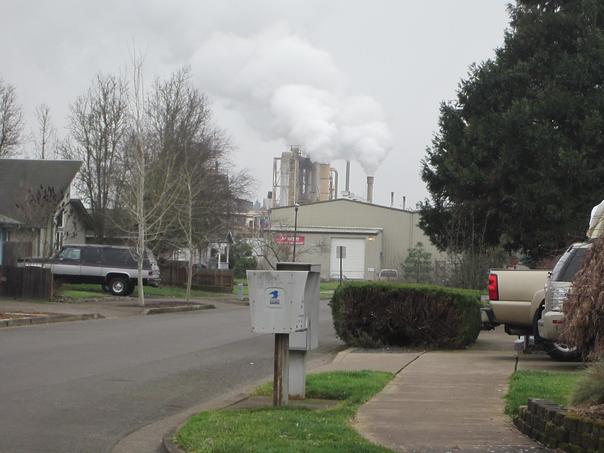
[[[271,211],[271,231],[281,237],[294,236],[293,206]],[[346,246],[342,260],[344,275],[350,279],[375,280],[382,269],[397,269],[407,251],[422,242],[432,260],[442,260],[434,245],[417,226],[419,211],[385,207],[368,202],[338,198],[303,204],[298,208],[297,251],[313,248],[300,261],[321,263],[321,277],[339,274],[336,246]],[[302,243],[303,242],[303,243]],[[320,252],[317,245],[326,245]],[[327,251],[329,249],[329,251]]]

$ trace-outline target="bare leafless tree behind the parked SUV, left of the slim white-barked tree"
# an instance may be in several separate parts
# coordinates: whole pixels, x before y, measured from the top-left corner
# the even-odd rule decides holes
[[[88,91],[69,105],[70,140],[63,156],[84,163],[76,186],[97,225],[97,243],[106,240],[109,210],[123,181],[121,152],[129,130],[129,93],[123,77],[98,73]]]

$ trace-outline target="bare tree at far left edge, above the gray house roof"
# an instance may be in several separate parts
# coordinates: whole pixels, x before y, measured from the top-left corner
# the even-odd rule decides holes
[[[13,85],[0,76],[0,158],[17,154],[23,138],[23,112]]]

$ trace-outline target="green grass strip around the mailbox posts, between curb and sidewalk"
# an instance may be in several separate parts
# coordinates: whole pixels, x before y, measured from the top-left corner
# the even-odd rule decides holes
[[[394,377],[383,371],[333,371],[308,374],[307,398],[342,399],[332,409],[315,411],[283,406],[240,411],[202,412],[176,434],[176,442],[189,453],[334,452],[386,453],[350,428],[358,407],[382,390]],[[255,394],[271,394],[272,384]]]

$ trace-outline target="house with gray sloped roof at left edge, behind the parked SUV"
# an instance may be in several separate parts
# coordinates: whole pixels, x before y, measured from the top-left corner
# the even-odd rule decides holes
[[[94,223],[71,183],[82,161],[0,159],[0,264],[9,246],[48,256],[67,243],[85,243]]]

